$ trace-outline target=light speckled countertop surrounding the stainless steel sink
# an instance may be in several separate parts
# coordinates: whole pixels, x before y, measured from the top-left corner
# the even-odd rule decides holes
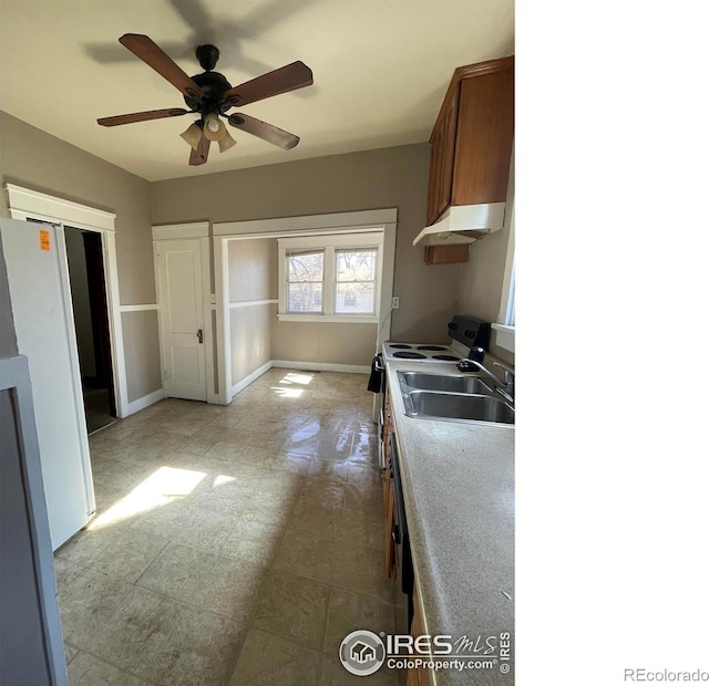
[[[489,358],[485,358],[487,366]],[[438,686],[514,683],[514,435],[511,426],[407,417],[398,371],[460,374],[454,364],[387,363],[414,574],[427,632],[465,636],[485,659],[512,636],[506,664],[438,671]],[[495,655],[497,652],[495,651]],[[445,658],[445,656],[442,656]]]

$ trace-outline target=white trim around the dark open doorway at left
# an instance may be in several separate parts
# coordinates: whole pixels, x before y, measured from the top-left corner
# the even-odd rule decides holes
[[[8,193],[10,217],[27,221],[40,219],[62,228],[72,226],[101,233],[103,269],[109,304],[109,334],[111,336],[111,364],[115,408],[120,418],[127,417],[129,394],[123,350],[123,325],[121,322],[121,298],[119,293],[119,267],[115,248],[115,214],[95,209],[71,200],[39,193],[14,184],[4,185]]]

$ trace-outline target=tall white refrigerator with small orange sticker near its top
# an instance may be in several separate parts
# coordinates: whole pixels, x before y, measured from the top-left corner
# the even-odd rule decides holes
[[[28,358],[52,549],[95,513],[66,247],[56,228],[0,219],[18,350]]]

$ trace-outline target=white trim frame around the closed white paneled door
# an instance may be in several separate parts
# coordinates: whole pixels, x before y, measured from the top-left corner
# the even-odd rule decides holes
[[[204,320],[204,356],[205,356],[205,382],[206,382],[206,402],[210,404],[220,404],[215,389],[215,350],[214,350],[214,326],[213,326],[213,305],[214,298],[212,293],[212,238],[209,236],[208,221],[191,221],[185,224],[169,224],[152,227],[153,232],[153,262],[155,271],[155,294],[157,298],[157,332],[160,339],[160,365],[163,383],[165,381],[165,353],[163,340],[163,318],[165,302],[160,288],[160,266],[157,263],[157,247],[160,243],[173,240],[199,240],[199,257],[202,261],[202,311]]]

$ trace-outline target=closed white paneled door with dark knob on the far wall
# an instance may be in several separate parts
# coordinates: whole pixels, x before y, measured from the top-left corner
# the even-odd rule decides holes
[[[155,254],[165,395],[206,401],[201,240],[156,241]]]

